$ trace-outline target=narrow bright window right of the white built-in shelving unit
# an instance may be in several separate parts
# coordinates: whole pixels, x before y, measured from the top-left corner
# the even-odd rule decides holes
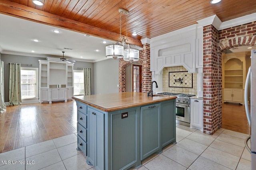
[[[84,95],[84,71],[74,70],[74,96]]]

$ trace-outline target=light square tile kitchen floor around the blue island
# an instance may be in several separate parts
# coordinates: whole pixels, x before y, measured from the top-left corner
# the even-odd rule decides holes
[[[164,147],[142,161],[138,170],[250,170],[251,157],[244,147],[247,135],[219,129],[214,135],[183,125],[176,126],[176,145]],[[0,154],[1,170],[95,170],[76,150],[76,133]],[[9,160],[2,162],[2,160]],[[20,161],[25,164],[12,164]],[[134,170],[134,169],[132,169]]]

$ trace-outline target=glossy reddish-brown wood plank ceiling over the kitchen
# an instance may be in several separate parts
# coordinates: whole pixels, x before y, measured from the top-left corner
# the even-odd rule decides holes
[[[197,20],[215,14],[223,22],[256,12],[256,0],[222,0],[218,4],[210,4],[210,0],[42,0],[42,2],[44,6],[36,6],[32,0],[0,0],[0,7],[9,8],[9,12],[0,8],[0,13],[54,25],[44,18],[39,21],[31,17],[31,11],[34,12],[33,15],[39,16],[40,11],[46,12],[42,15],[53,14],[50,18],[60,17],[60,20],[66,18],[68,21],[76,21],[76,24],[82,23],[99,29],[98,32],[94,32],[90,31],[90,28],[78,30],[72,29],[73,26],[58,25],[59,27],[117,40],[120,32],[118,9],[123,8],[130,12],[127,18],[127,32],[132,41],[129,42],[141,46],[136,39],[156,37],[193,25]],[[36,10],[30,9],[30,16],[21,14],[22,12],[12,12],[18,4],[22,5],[18,7],[20,11],[28,11],[30,8]],[[101,35],[102,30],[113,36]],[[133,32],[138,35],[132,36]],[[125,16],[122,17],[122,34],[126,34]]]

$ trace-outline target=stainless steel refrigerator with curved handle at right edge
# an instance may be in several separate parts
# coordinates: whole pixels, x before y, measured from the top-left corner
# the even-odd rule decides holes
[[[250,105],[248,105],[248,93],[250,94]],[[245,140],[245,146],[252,156],[252,170],[256,170],[256,50],[251,51],[251,66],[246,77],[244,103],[248,123],[251,127],[251,133]],[[249,139],[251,139],[251,148],[248,147]]]

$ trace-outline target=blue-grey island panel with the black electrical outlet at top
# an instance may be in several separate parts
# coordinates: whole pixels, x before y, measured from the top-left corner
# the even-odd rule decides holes
[[[123,169],[124,166],[137,161],[138,109],[127,109],[128,117],[122,119],[122,113],[111,114],[111,152],[112,169]]]

